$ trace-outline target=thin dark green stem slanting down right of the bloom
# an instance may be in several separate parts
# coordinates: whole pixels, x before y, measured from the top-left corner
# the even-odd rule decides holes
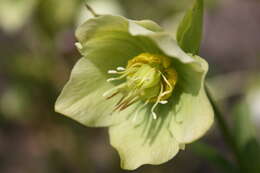
[[[226,144],[228,145],[228,147],[230,148],[231,152],[233,153],[235,159],[236,159],[236,162],[238,164],[238,167],[240,168],[241,170],[241,159],[240,159],[240,153],[239,153],[239,150],[238,150],[238,147],[236,145],[236,142],[231,134],[231,131],[226,123],[226,120],[222,114],[222,112],[220,111],[220,109],[218,108],[217,104],[216,104],[216,101],[213,99],[210,91],[209,91],[209,88],[207,87],[207,85],[205,85],[205,90],[206,90],[206,93],[207,93],[207,96],[209,98],[209,101],[213,107],[213,110],[215,112],[215,119],[217,121],[217,124],[218,124],[218,127],[219,127],[219,130],[221,132],[221,135],[222,137],[224,138]],[[242,170],[241,170],[242,172]]]

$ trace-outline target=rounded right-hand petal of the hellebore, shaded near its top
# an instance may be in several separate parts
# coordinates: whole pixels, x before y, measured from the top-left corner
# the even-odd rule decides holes
[[[186,75],[186,80],[180,82],[170,101],[171,104],[168,105],[171,107],[169,114],[174,117],[171,124],[172,133],[181,143],[190,143],[203,136],[214,119],[211,104],[204,90],[207,63],[199,57],[195,59],[200,61],[205,69],[202,79],[198,79],[198,74]]]

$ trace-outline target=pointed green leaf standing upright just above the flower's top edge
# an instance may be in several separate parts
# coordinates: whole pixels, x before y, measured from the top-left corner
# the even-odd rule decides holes
[[[203,32],[203,0],[195,0],[192,9],[188,10],[177,30],[177,42],[187,53],[197,55]]]

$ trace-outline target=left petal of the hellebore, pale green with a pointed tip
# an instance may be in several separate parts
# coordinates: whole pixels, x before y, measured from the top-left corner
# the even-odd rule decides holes
[[[70,80],[56,101],[55,111],[87,126],[116,124],[125,119],[135,106],[112,114],[119,96],[109,100],[102,96],[112,87],[91,61],[82,58],[73,68]]]

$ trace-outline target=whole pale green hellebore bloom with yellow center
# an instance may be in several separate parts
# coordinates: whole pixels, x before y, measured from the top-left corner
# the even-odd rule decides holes
[[[166,162],[210,128],[207,62],[186,54],[156,23],[103,15],[81,25],[76,37],[83,58],[55,110],[109,127],[122,168]]]

